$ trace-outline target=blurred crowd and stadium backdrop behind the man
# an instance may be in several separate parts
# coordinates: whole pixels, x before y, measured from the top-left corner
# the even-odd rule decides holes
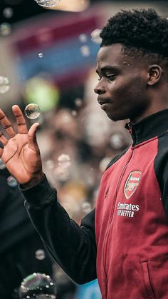
[[[148,7],[168,17],[167,1],[0,1],[0,106],[13,123],[15,103],[28,127],[41,123],[43,171],[78,223],[95,206],[107,164],[131,143],[93,92],[99,32],[117,11]],[[96,280],[75,285],[56,263],[53,279],[58,299],[100,298]]]

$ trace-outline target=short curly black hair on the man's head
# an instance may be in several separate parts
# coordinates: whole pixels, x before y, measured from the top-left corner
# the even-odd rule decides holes
[[[168,19],[154,9],[122,10],[112,16],[100,32],[100,47],[122,44],[125,54],[132,51],[161,59],[168,59]]]

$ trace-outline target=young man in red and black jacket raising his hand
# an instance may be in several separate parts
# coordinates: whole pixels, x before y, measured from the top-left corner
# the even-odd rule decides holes
[[[98,277],[103,299],[168,298],[168,21],[122,11],[100,34],[98,103],[133,143],[103,174],[96,208],[78,226],[43,175],[34,123],[18,133],[0,112],[1,158],[19,181],[43,243],[77,283]]]

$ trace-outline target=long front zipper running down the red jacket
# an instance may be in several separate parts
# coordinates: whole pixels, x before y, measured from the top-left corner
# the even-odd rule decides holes
[[[106,233],[105,233],[105,243],[103,245],[103,252],[105,253],[103,255],[103,268],[104,268],[104,272],[105,272],[105,285],[107,285],[107,273],[106,273],[106,270],[105,270],[105,265],[106,265],[106,255],[107,255],[107,241],[108,241],[108,238],[109,238],[109,234],[110,234],[110,226],[112,224],[112,219],[113,219],[113,216],[114,216],[114,211],[115,211],[115,203],[116,203],[116,200],[117,200],[117,191],[119,189],[119,186],[120,186],[120,182],[122,181],[122,178],[124,176],[124,173],[125,173],[125,170],[127,168],[127,165],[128,163],[130,163],[130,160],[132,158],[132,155],[134,153],[135,149],[132,150],[131,154],[130,154],[130,158],[128,159],[127,163],[125,164],[125,166],[122,168],[122,173],[120,175],[120,178],[117,182],[117,188],[116,188],[116,192],[115,192],[115,199],[114,199],[114,203],[113,203],[113,206],[112,206],[112,212],[111,212],[111,215],[110,215],[110,221],[108,223],[108,228],[106,230]],[[107,195],[106,195],[107,197]]]

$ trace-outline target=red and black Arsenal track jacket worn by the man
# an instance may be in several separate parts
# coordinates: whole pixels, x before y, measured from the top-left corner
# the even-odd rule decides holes
[[[168,109],[127,127],[132,146],[107,167],[80,227],[46,177],[22,192],[43,242],[76,283],[98,277],[103,299],[167,299]]]

